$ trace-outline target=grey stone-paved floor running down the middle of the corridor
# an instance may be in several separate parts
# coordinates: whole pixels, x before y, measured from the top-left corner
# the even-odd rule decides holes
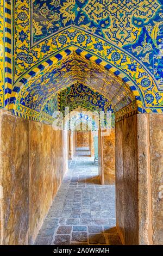
[[[36,245],[120,245],[115,186],[102,186],[92,157],[74,157]]]

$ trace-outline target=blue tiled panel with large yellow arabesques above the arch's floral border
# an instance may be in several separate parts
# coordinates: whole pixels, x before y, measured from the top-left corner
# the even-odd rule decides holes
[[[153,0],[35,0],[33,42],[74,25],[114,42],[140,59],[162,85],[162,5]],[[155,61],[156,60],[156,61]],[[162,78],[162,76],[161,76]]]

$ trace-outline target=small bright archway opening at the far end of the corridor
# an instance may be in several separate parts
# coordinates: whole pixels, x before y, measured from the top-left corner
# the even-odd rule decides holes
[[[95,136],[98,133],[98,126],[95,121],[95,113],[82,107],[71,111],[68,117],[68,158],[73,156],[90,156],[93,161],[98,161],[98,145],[95,150]]]

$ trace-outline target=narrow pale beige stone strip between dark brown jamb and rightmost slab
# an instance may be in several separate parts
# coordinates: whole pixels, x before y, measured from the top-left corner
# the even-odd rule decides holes
[[[149,115],[137,114],[138,243],[152,245]]]

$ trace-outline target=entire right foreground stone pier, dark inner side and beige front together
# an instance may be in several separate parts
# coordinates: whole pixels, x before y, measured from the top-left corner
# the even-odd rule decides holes
[[[163,115],[116,123],[116,222],[126,245],[162,245]]]

